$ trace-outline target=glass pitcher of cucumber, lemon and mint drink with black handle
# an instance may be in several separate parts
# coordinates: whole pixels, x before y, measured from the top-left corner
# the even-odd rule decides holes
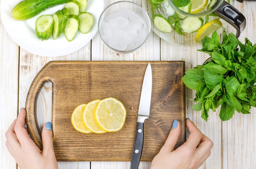
[[[210,36],[216,30],[221,31],[222,26],[225,27],[227,23],[231,24],[229,18],[235,18],[235,16],[229,16],[230,13],[225,10],[232,12],[234,10],[233,13],[244,18],[243,14],[229,5],[234,4],[234,0],[226,1],[226,4],[222,4],[224,3],[223,0],[148,0],[150,4],[149,14],[153,26],[162,33],[162,37],[166,36],[166,33],[170,34],[169,39],[180,40],[180,44],[184,44],[186,38],[193,38],[194,42],[201,42],[205,36]],[[226,6],[231,6],[231,8],[225,9]],[[222,13],[218,13],[219,8],[223,8],[224,16]],[[238,25],[236,29],[239,36],[245,27],[245,18],[241,22],[238,21],[239,23],[236,22],[232,26]]]

